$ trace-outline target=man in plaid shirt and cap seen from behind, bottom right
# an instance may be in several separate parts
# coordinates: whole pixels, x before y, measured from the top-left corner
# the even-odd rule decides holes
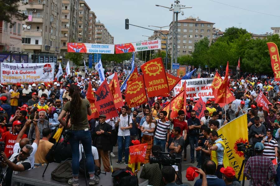
[[[250,179],[249,185],[271,185],[271,180],[276,176],[273,163],[263,156],[264,144],[257,142],[254,149],[256,155],[248,159],[243,173]]]

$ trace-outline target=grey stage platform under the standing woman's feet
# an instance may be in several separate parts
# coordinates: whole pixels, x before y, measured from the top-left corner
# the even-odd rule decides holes
[[[58,163],[50,163],[44,177],[42,174],[44,172],[45,166],[39,168],[26,170],[19,174],[13,175],[12,180],[20,183],[38,185],[38,186],[69,186],[67,182],[59,182],[51,178],[51,172],[58,166]],[[100,174],[97,176],[99,178],[99,183],[95,186],[114,186],[112,173],[107,172],[105,174]],[[88,178],[89,179],[89,178]],[[138,178],[139,186],[148,185],[147,179]],[[85,177],[81,174],[79,177],[80,186],[85,186]]]

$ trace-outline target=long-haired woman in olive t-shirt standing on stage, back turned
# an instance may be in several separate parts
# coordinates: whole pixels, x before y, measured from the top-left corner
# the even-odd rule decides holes
[[[90,103],[86,99],[82,99],[80,89],[77,85],[69,87],[69,96],[72,98],[68,101],[58,117],[58,121],[66,128],[70,128],[72,135],[70,136],[70,145],[72,148],[72,174],[73,178],[68,180],[68,184],[73,186],[79,185],[79,145],[82,142],[86,156],[86,170],[90,175],[89,185],[99,183],[94,175],[94,161],[91,152],[91,133],[87,120],[87,115],[91,115]],[[66,113],[70,113],[70,124],[63,120]]]

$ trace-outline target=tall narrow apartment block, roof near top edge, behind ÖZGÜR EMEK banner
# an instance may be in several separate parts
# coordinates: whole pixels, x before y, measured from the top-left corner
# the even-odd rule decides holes
[[[79,17],[78,17],[78,42],[88,43],[88,24],[90,7],[85,1],[79,2]]]

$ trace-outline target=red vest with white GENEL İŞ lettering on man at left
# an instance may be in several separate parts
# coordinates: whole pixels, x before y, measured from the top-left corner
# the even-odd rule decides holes
[[[7,131],[2,134],[0,141],[5,142],[5,150],[4,153],[7,157],[13,154],[13,148],[16,143],[16,138],[18,134],[11,134],[10,131]],[[24,134],[22,138],[27,138],[27,135]],[[21,139],[22,139],[21,138]]]

